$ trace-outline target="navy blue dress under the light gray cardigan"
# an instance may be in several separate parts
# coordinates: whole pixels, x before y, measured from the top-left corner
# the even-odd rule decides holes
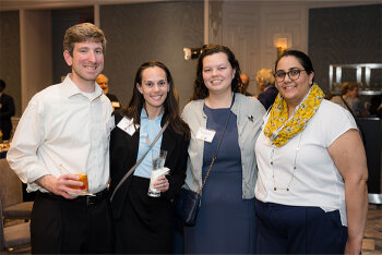
[[[204,143],[203,180],[230,111],[203,108],[207,129],[215,130],[212,143]],[[237,117],[230,116],[217,159],[202,192],[195,227],[184,228],[184,252],[193,254],[255,252],[254,198],[242,199],[241,154]]]

